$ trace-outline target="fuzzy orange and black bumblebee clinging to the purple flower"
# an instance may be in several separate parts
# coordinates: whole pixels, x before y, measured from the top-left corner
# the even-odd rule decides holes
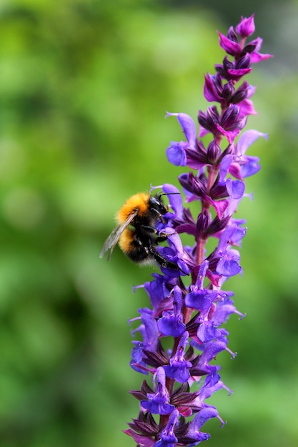
[[[104,242],[100,257],[109,250],[109,261],[116,243],[119,242],[121,250],[131,261],[143,265],[156,261],[162,267],[177,270],[177,264],[164,258],[156,249],[158,243],[169,236],[157,230],[159,220],[165,223],[164,214],[168,211],[162,201],[164,195],[166,194],[139,193],[127,199],[116,214],[118,224]]]

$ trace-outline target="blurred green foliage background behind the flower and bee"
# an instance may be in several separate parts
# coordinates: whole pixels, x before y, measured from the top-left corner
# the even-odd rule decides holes
[[[234,394],[210,399],[228,423],[204,429],[209,447],[298,445],[297,1],[1,0],[2,447],[134,446],[121,430],[144,377],[129,368],[127,318],[149,305],[131,286],[152,268],[99,252],[127,197],[178,186],[165,149],[181,130],[165,111],[207,108],[216,30],[252,12],[275,57],[247,78],[259,112],[247,129],[269,141],[249,152],[262,170],[237,215],[244,276],[227,283],[247,313],[227,324],[237,358],[218,356]]]

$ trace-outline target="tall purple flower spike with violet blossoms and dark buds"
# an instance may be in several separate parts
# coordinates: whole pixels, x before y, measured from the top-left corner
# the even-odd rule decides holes
[[[227,56],[204,82],[205,98],[218,106],[199,111],[199,136],[190,116],[167,114],[177,116],[186,139],[173,141],[167,157],[176,166],[192,169],[179,176],[179,182],[187,203],[199,201],[201,206],[194,217],[184,208],[179,189],[162,186],[172,211],[158,227],[167,233],[169,244],[157,249],[177,269],[161,266],[162,273],[153,273],[152,281],[139,286],[148,294],[152,308],[139,309],[141,324],[133,333],[141,334],[142,341],[133,342],[131,367],[152,375],[153,384],[144,381],[139,391],[131,391],[140,401],[140,413],[125,433],[137,446],[195,446],[209,438],[201,431],[206,421],[215,417],[224,424],[217,409],[206,403],[220,388],[230,392],[221,381],[220,367],[212,361],[221,351],[234,358],[222,324],[232,313],[243,315],[234,306],[233,293],[222,286],[242,271],[237,248],[246,227],[243,219],[233,216],[245,195],[244,179],[260,167],[259,159],[247,156],[246,151],[259,136],[266,138],[254,130],[239,136],[247,117],[256,112],[250,99],[255,88],[247,81],[237,83],[249,74],[253,63],[270,57],[259,53],[259,37],[246,42],[253,32],[251,16],[242,18],[236,31],[231,27],[227,36],[219,33],[219,44]],[[205,134],[212,136],[207,147],[202,142]],[[182,245],[182,233],[194,237],[193,246]],[[218,243],[207,253],[211,236]],[[166,338],[167,343],[172,339],[170,349],[163,346]],[[191,392],[192,384],[195,389]]]

